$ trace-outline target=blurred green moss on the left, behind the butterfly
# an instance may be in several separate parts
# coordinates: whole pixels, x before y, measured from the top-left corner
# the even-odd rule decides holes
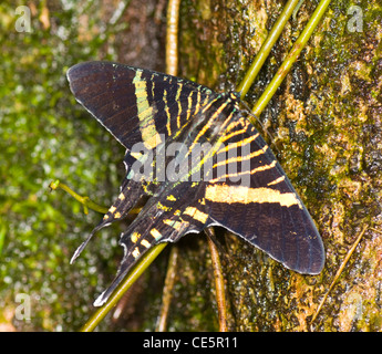
[[[60,177],[100,200],[110,190],[97,176],[114,169],[114,143],[105,149],[111,139],[75,104],[65,80],[66,69],[96,56],[102,43],[81,41],[73,25],[81,13],[54,1],[49,28],[39,20],[48,8],[31,3],[32,32],[18,32],[17,6],[0,6],[0,17],[8,19],[0,31],[0,278],[7,280],[0,284],[1,308],[16,311],[16,295],[25,293],[32,319],[14,320],[18,330],[73,330],[92,310],[99,281],[87,272],[96,259],[91,252],[73,267],[69,260],[99,216],[84,220],[73,200],[50,194],[48,185]]]

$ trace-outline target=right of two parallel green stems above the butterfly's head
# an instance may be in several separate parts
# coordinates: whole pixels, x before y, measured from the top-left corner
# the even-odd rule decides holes
[[[271,97],[275,95],[276,90],[280,86],[281,82],[289,73],[293,63],[297,61],[297,58],[299,56],[302,49],[307,44],[308,40],[312,35],[316,27],[320,22],[329,4],[330,4],[330,0],[321,0],[320,3],[318,4],[307,27],[303,29],[302,33],[295,42],[295,45],[289,52],[288,56],[282,62],[281,66],[277,71],[270,84],[267,86],[267,90],[262,93],[262,95],[260,96],[256,105],[254,106],[252,113],[256,116],[259,116],[262,113],[262,111],[265,110],[265,107],[267,106]]]

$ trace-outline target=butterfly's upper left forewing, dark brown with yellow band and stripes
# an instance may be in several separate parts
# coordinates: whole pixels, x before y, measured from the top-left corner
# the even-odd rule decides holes
[[[155,148],[177,134],[213,94],[192,81],[110,62],[68,71],[76,100],[126,148]]]

